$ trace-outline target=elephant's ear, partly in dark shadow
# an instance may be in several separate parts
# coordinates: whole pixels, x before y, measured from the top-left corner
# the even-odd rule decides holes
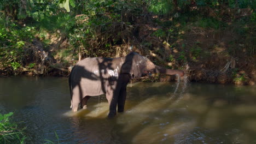
[[[122,74],[130,74],[131,79],[135,77],[141,77],[141,68],[140,64],[138,63],[139,55],[137,53],[131,52],[129,55],[125,57],[125,62],[122,66],[121,73]]]

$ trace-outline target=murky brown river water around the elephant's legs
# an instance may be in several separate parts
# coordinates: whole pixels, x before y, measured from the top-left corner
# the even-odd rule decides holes
[[[104,96],[71,112],[67,78],[0,78],[0,113],[27,127],[27,143],[256,143],[256,87],[157,82],[127,86],[125,112]]]

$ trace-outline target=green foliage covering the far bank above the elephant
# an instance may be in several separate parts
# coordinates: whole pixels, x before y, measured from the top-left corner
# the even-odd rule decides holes
[[[254,47],[247,45],[254,40],[254,29],[251,26],[256,17],[253,1],[196,0],[194,5],[191,2],[193,1],[177,0],[175,5],[175,1],[166,0],[2,0],[0,68],[22,70],[22,67],[30,69],[36,67],[37,62],[31,61],[26,56],[34,38],[43,41],[45,47],[48,47],[44,49],[45,51],[53,50],[48,52],[51,56],[56,56],[63,65],[75,62],[70,61],[78,59],[80,55],[82,57],[113,56],[117,47],[124,47],[128,42],[133,43],[136,49],[141,47],[144,51],[162,45],[171,49],[174,47],[181,49],[182,52],[178,53],[178,56],[175,54],[179,62],[186,62],[188,54],[192,59],[199,60],[199,57],[206,56],[207,53],[195,46],[185,55],[184,51],[187,52],[188,46],[186,42],[181,42],[188,39],[187,34],[193,35],[198,32],[196,31],[198,27],[204,30],[212,28],[211,31],[224,28],[229,31],[230,28],[232,29],[230,31],[234,30],[237,35],[241,35],[244,41],[230,45],[228,51],[235,55],[238,50],[242,50],[241,47],[237,48],[237,44],[245,43],[245,53],[249,53],[251,57],[254,55]],[[241,13],[238,12],[240,8],[251,8],[254,11],[250,16],[241,17]],[[227,12],[225,9],[230,11]],[[24,10],[25,13],[22,12]],[[234,12],[235,10],[237,12]],[[237,18],[238,13],[240,17]],[[18,19],[15,18],[17,16]],[[235,22],[237,26],[231,28],[230,25],[234,25]],[[155,28],[158,30],[151,33],[155,41],[144,38],[148,37]],[[65,39],[67,47],[50,49],[50,44],[57,41],[52,34],[56,35],[56,39],[60,37],[61,40]],[[61,40],[56,45],[61,45]],[[156,42],[161,40],[166,41],[166,44]],[[120,52],[122,51],[123,48]],[[162,56],[167,61],[174,61],[172,55],[167,58]],[[26,59],[28,60],[25,64]]]

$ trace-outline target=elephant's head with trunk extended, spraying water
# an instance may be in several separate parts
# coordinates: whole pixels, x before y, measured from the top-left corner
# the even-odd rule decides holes
[[[147,57],[138,55],[138,53],[131,52],[124,57],[124,64],[121,73],[130,74],[131,79],[150,75],[151,73],[161,73],[168,75],[184,75],[182,70],[172,70],[161,68],[155,65]]]

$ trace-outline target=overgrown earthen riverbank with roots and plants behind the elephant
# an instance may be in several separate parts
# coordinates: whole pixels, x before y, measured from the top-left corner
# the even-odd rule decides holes
[[[0,75],[67,76],[80,59],[134,51],[161,67],[184,70],[188,81],[255,85],[254,9],[183,6],[162,14],[141,1],[112,2],[90,5],[96,14],[59,10],[41,19],[2,18]]]

